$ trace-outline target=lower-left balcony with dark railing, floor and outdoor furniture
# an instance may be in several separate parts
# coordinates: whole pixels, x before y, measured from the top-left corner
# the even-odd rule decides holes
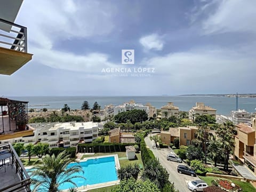
[[[10,143],[0,145],[0,158],[5,158],[0,169],[0,191],[31,191],[30,177]]]

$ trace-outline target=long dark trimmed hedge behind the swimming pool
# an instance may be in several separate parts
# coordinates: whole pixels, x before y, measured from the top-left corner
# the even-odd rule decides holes
[[[114,153],[126,151],[126,146],[140,146],[140,143],[80,143],[78,153]]]

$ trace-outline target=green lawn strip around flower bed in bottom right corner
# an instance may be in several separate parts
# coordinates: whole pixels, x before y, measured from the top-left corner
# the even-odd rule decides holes
[[[207,185],[211,186],[212,183],[211,181],[214,179],[225,179],[225,178],[219,178],[219,177],[211,177],[211,176],[199,176],[200,179],[204,180]],[[234,180],[234,179],[228,179],[232,182],[234,182],[235,184],[239,185],[242,189],[243,192],[252,192],[252,191],[256,191],[256,189],[251,185],[251,183],[249,182],[243,182],[243,181],[238,181],[238,180]]]

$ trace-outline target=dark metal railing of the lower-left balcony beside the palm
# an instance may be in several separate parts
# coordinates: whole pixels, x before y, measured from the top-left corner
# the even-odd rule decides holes
[[[7,187],[0,188],[0,191],[31,191],[30,177],[27,171],[25,170],[25,167],[23,166],[22,162],[20,161],[20,158],[17,155],[15,149],[12,147],[11,143],[5,143],[3,145],[0,145],[0,149],[6,149],[10,151],[10,153],[12,154],[12,164],[16,169],[16,174],[18,173],[17,177],[20,178],[19,182],[15,182]]]

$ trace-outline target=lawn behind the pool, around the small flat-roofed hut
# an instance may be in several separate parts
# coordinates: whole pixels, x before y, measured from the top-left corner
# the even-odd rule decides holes
[[[139,165],[141,165],[141,167],[143,167],[143,164],[142,164],[142,161],[141,161],[141,154],[138,153],[138,154],[135,154],[137,159],[134,159],[134,160],[128,160],[128,159],[123,159],[122,157],[126,157],[126,153],[125,152],[116,152],[116,153],[95,153],[94,155],[83,155],[83,158],[86,158],[86,157],[96,157],[96,156],[102,156],[102,155],[114,155],[114,154],[117,154],[118,155],[118,158],[121,158],[119,159],[119,163],[120,163],[120,166],[126,166],[128,164],[134,164],[134,163],[138,163]]]

